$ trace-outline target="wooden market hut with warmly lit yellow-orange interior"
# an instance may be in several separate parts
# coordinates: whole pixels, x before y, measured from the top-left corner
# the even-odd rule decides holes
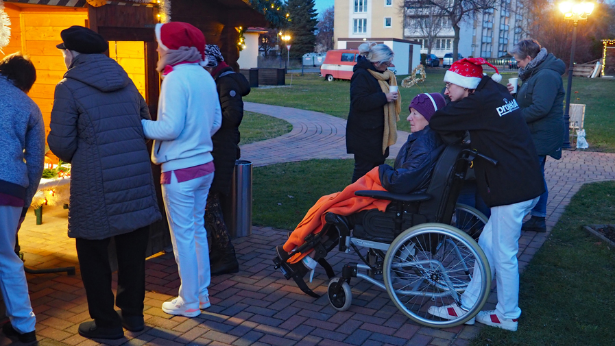
[[[71,25],[90,27],[109,41],[108,55],[128,72],[156,118],[160,77],[154,25],[184,21],[201,29],[208,43],[219,45],[225,60],[239,71],[239,27],[265,26],[265,17],[252,10],[247,0],[5,0],[10,18],[10,42],[5,55],[21,51],[36,66],[36,83],[29,97],[38,104],[49,134],[49,120],[56,84],[66,72],[60,31]],[[1,47],[0,47],[1,48]],[[154,177],[159,177],[154,166]],[[158,197],[163,208],[158,185]],[[164,215],[165,213],[162,212]],[[170,245],[167,222],[152,226],[149,254]]]

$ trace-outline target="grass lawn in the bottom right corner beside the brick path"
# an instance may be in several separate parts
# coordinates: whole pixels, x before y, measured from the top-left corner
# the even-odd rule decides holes
[[[486,327],[471,345],[613,345],[615,249],[581,225],[614,220],[615,182],[583,186],[521,275],[518,331]]]

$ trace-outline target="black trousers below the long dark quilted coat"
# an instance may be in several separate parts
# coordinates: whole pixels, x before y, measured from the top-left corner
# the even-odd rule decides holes
[[[111,238],[88,240],[77,238],[77,258],[90,317],[100,327],[121,326],[114,305],[124,316],[143,316],[145,299],[145,250],[149,226],[114,236],[117,252],[117,299],[111,291],[111,267],[108,246]]]

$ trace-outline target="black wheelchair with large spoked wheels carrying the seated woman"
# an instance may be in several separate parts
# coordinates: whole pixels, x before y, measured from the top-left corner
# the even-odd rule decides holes
[[[333,308],[343,311],[350,307],[350,280],[359,277],[387,291],[395,306],[421,325],[449,328],[465,323],[481,310],[492,282],[487,258],[477,244],[487,218],[474,208],[455,203],[470,163],[477,157],[497,164],[461,143],[447,145],[426,193],[361,190],[355,195],[391,201],[387,210],[325,215],[322,231],[307,236],[293,253],[313,249],[313,260],[330,278],[327,295]],[[354,250],[363,263],[344,264],[341,277],[336,277],[326,262],[335,247],[345,253]],[[289,264],[281,257],[278,251],[274,267],[287,279],[293,278],[304,293],[319,297],[303,281],[303,264]],[[461,306],[461,295],[477,271],[482,278],[480,290],[466,314],[448,320],[429,313],[431,306]]]

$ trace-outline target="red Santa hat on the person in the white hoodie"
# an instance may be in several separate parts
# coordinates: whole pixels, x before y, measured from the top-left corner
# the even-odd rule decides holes
[[[180,47],[196,47],[205,60],[205,36],[189,23],[169,22],[156,24],[156,40],[160,48],[177,50]]]

